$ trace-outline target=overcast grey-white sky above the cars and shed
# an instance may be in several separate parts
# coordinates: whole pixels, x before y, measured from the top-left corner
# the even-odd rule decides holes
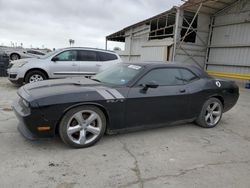
[[[164,12],[181,0],[0,0],[0,45],[104,48],[105,36]],[[108,48],[122,43],[109,42]]]

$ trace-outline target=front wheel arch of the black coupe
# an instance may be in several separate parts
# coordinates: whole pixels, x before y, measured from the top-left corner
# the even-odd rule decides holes
[[[59,120],[58,120],[57,123],[56,123],[55,134],[58,133],[59,125],[60,125],[60,122],[61,122],[63,116],[64,116],[69,110],[71,110],[71,109],[73,109],[73,108],[76,108],[76,107],[80,107],[80,106],[95,106],[95,107],[99,108],[99,109],[103,112],[103,114],[105,115],[105,118],[106,118],[106,130],[105,130],[105,132],[107,131],[107,129],[108,129],[108,127],[109,127],[109,121],[110,121],[108,110],[107,110],[103,105],[101,105],[101,104],[94,103],[94,102],[86,102],[86,103],[79,103],[79,104],[72,105],[72,106],[66,108],[66,109],[63,111],[63,114],[60,116]]]

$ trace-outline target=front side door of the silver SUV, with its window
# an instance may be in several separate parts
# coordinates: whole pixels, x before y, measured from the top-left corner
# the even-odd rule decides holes
[[[79,61],[76,50],[63,51],[51,59],[50,72],[53,78],[79,76]]]

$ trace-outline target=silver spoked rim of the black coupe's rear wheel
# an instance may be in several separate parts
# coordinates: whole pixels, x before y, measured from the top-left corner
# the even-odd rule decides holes
[[[216,125],[221,118],[222,109],[218,102],[212,102],[208,105],[205,113],[205,121],[209,126]]]

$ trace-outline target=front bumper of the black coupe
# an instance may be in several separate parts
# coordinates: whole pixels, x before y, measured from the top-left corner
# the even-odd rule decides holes
[[[47,140],[55,135],[54,129],[39,131],[39,126],[49,125],[50,122],[44,119],[39,109],[28,109],[22,104],[22,99],[16,100],[12,108],[19,120],[18,130],[27,139],[38,141]]]

